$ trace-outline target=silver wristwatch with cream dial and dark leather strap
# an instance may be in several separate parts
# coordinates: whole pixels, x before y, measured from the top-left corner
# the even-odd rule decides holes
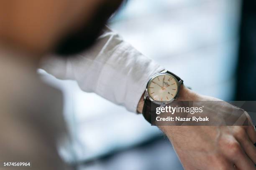
[[[180,86],[183,80],[172,72],[164,70],[153,75],[146,86],[144,106],[142,114],[145,119],[151,122],[151,113],[156,107],[173,102],[179,96]]]

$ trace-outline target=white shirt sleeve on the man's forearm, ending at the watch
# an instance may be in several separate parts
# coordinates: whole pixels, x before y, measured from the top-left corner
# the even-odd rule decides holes
[[[131,112],[136,112],[150,77],[164,70],[108,28],[86,52],[47,57],[41,68],[59,79],[75,80],[85,92],[95,92]]]

